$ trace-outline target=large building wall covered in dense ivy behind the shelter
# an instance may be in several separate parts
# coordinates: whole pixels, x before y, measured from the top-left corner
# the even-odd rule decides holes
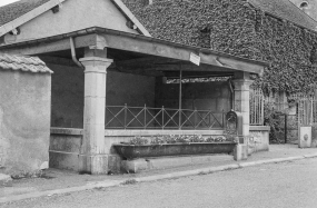
[[[265,14],[244,0],[123,0],[155,38],[270,63],[256,83],[307,92],[317,81],[317,33]]]

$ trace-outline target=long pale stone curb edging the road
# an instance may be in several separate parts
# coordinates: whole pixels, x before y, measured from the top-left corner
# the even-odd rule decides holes
[[[0,204],[12,202],[12,201],[23,200],[23,199],[29,199],[29,198],[50,197],[53,195],[62,195],[62,194],[77,192],[77,191],[83,191],[83,190],[91,190],[95,188],[117,187],[117,186],[126,184],[127,181],[147,182],[147,181],[180,178],[180,177],[187,177],[187,176],[207,175],[207,174],[214,174],[214,172],[219,172],[219,171],[235,170],[235,169],[239,169],[239,168],[258,166],[258,165],[264,165],[264,164],[278,164],[278,162],[285,162],[285,161],[301,160],[301,159],[306,159],[306,158],[317,158],[317,153],[304,155],[304,156],[297,156],[297,157],[288,157],[288,158],[277,158],[277,159],[250,161],[250,162],[239,162],[239,164],[234,164],[234,165],[201,168],[201,169],[196,169],[196,170],[187,170],[187,171],[179,171],[179,172],[157,175],[157,176],[147,176],[147,177],[140,177],[140,178],[125,179],[125,180],[100,181],[100,182],[88,184],[88,185],[85,185],[81,187],[71,187],[71,188],[65,188],[65,189],[36,191],[36,192],[2,197],[2,198],[0,198]]]

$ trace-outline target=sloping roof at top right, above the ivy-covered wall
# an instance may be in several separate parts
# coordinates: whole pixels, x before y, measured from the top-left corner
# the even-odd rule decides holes
[[[289,0],[248,0],[248,2],[281,19],[289,20],[307,29],[316,30],[317,22]]]

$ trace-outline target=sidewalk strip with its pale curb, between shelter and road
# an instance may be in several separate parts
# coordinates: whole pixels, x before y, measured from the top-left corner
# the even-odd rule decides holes
[[[205,175],[262,164],[303,160],[306,158],[317,158],[317,149],[299,149],[296,145],[271,145],[269,151],[254,153],[245,161],[234,161],[232,156],[217,155],[215,159],[208,164],[140,174],[90,176],[78,175],[77,172],[66,170],[49,169],[44,172],[44,177],[42,178],[13,180],[10,186],[1,187],[0,202],[63,195],[96,188],[108,188],[125,184]]]

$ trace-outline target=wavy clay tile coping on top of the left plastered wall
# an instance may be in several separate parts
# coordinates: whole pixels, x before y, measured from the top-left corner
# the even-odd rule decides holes
[[[38,57],[22,57],[7,53],[0,53],[0,69],[14,71],[21,70],[33,73],[52,73],[52,71],[46,66],[46,63]]]

